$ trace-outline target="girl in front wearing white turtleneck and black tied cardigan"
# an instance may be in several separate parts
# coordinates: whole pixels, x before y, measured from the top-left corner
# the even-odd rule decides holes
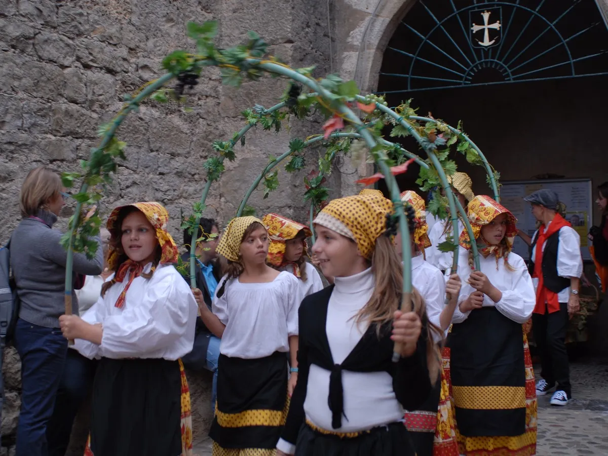
[[[300,306],[300,378],[278,455],[415,454],[404,409],[426,398],[439,364],[420,295],[413,311],[398,310],[392,213],[388,199],[364,194],[334,199],[314,220],[313,252],[334,285]]]

